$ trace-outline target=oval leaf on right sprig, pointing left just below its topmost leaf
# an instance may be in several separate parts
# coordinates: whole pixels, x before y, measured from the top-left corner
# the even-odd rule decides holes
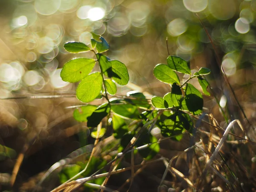
[[[180,79],[177,74],[165,64],[157,64],[156,67],[154,67],[154,76],[164,83],[180,84]]]

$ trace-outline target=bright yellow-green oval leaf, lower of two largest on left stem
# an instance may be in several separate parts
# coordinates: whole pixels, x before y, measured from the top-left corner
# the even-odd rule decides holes
[[[93,101],[101,91],[102,76],[99,72],[86,76],[76,88],[76,97],[81,102]]]

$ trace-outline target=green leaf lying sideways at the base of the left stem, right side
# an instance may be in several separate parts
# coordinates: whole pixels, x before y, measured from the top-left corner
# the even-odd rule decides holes
[[[129,119],[139,119],[140,113],[137,106],[131,104],[124,104],[122,103],[122,101],[117,99],[112,99],[111,104],[111,110],[117,115]]]

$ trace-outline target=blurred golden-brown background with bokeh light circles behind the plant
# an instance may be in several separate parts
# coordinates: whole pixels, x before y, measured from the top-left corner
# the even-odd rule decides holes
[[[256,0],[0,0],[2,189],[8,189],[18,154],[25,157],[17,188],[90,143],[90,131],[73,120],[70,108],[81,105],[76,84],[62,81],[60,72],[70,59],[93,54],[70,54],[64,43],[89,45],[102,35],[110,44],[105,54],[126,64],[131,83],[139,86],[119,87],[118,94],[139,89],[163,96],[170,87],[154,78],[153,69],[166,64],[167,37],[170,55],[188,61],[191,69],[212,70],[207,80],[224,112],[231,120],[242,118],[222,65],[249,118],[256,108],[255,17]],[[224,125],[215,99],[204,99],[207,112]]]

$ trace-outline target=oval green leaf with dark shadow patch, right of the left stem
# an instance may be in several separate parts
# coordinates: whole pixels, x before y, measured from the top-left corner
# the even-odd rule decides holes
[[[112,60],[110,62],[112,64],[112,72],[113,72],[112,79],[119,85],[128,84],[129,74],[125,64],[117,60]]]

